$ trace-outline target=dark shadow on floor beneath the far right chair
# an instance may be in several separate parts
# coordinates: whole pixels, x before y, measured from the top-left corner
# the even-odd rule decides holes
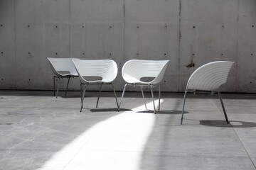
[[[227,124],[225,120],[200,120],[200,125],[223,127],[223,128],[254,128],[256,123],[230,120]]]

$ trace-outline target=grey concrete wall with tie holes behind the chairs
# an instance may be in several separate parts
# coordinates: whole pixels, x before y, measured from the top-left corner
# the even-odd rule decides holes
[[[222,90],[255,93],[255,9],[255,0],[0,0],[0,89],[52,89],[46,58],[78,57],[115,60],[118,91],[127,60],[170,60],[163,91],[183,91],[202,64],[230,60]]]

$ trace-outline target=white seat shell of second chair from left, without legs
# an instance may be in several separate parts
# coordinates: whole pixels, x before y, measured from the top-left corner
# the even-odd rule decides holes
[[[117,63],[113,60],[73,60],[75,69],[82,83],[105,82],[110,83],[117,77]],[[101,77],[95,81],[87,77]]]

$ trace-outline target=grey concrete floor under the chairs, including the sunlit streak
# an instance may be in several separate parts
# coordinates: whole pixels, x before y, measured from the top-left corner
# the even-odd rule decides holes
[[[117,112],[112,93],[95,108],[88,92],[82,113],[80,93],[52,95],[0,91],[0,169],[256,169],[255,94],[223,94],[230,125],[216,95],[188,95],[183,125],[183,94],[164,93],[156,115],[140,93]]]

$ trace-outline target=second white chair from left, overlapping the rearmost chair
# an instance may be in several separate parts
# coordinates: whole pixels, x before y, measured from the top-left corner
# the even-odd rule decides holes
[[[85,98],[85,90],[87,86],[92,84],[100,84],[100,91],[97,98],[96,108],[100,99],[100,92],[102,88],[102,84],[111,84],[114,91],[114,85],[112,81],[117,77],[117,63],[113,60],[73,60],[75,64],[75,69],[78,71],[78,75],[80,78],[80,88],[81,88],[81,108],[80,112],[83,108],[83,101]],[[93,79],[93,80],[92,80]],[[117,95],[114,91],[114,97],[117,102]],[[118,102],[117,102],[117,108]]]

